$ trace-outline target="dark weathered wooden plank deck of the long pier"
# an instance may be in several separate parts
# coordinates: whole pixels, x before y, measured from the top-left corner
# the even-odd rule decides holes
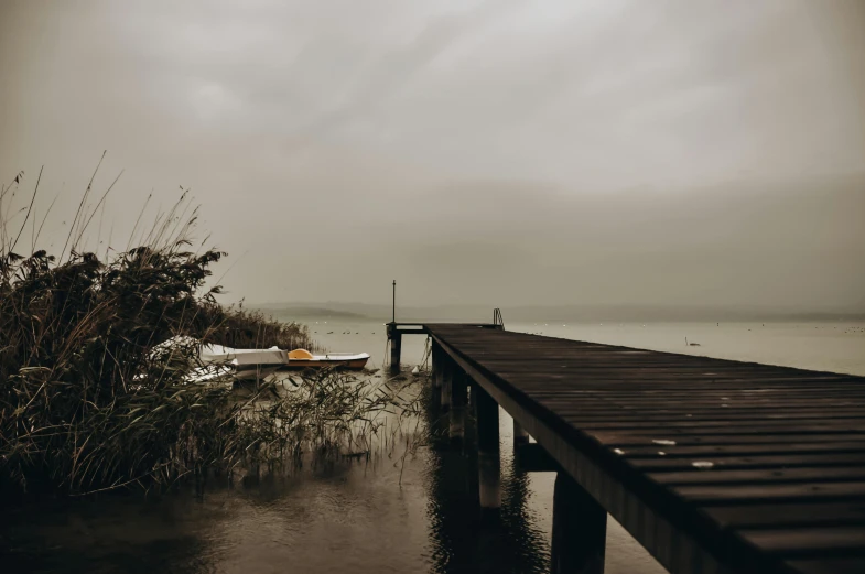
[[[423,326],[673,573],[865,573],[865,378]]]

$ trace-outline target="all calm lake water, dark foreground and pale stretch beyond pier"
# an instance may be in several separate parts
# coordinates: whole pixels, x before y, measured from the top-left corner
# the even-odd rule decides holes
[[[381,323],[311,322],[333,351],[385,358]],[[508,324],[512,331],[865,375],[865,325]],[[333,332],[328,334],[328,332]],[[700,347],[686,347],[684,337]],[[422,337],[403,343],[417,364]],[[0,518],[0,572],[547,572],[552,474],[513,469],[501,416],[502,510],[485,519],[471,492],[476,462],[446,448],[306,467],[289,479],[137,497],[44,502]],[[610,574],[663,572],[610,521]]]

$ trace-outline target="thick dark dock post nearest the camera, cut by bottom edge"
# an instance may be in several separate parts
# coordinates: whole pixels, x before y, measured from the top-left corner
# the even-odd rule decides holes
[[[553,491],[553,574],[604,574],[607,511],[565,473]]]

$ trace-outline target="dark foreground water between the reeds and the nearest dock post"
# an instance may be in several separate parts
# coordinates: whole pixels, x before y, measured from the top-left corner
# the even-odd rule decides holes
[[[404,467],[403,453],[380,450],[258,483],[210,483],[201,499],[183,487],[7,506],[0,572],[548,572],[549,535],[509,441],[502,508],[482,512],[471,425],[455,448],[436,416],[428,413],[430,438]]]

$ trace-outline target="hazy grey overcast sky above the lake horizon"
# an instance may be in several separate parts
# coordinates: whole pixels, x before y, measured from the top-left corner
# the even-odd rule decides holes
[[[0,78],[44,242],[108,150],[228,300],[865,308],[862,0],[0,0]]]

